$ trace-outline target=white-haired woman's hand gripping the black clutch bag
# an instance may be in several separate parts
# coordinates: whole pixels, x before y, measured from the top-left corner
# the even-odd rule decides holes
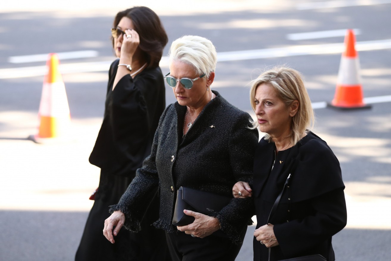
[[[193,216],[195,220],[189,225],[177,227],[179,231],[185,231],[186,234],[192,234],[197,238],[204,238],[220,229],[220,222],[217,218],[186,209],[183,212],[188,216]]]

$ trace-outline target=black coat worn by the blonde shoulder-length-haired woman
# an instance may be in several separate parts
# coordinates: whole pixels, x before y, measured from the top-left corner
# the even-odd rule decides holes
[[[270,260],[321,254],[334,261],[331,238],[346,225],[344,184],[339,162],[326,142],[310,132],[292,148],[279,151],[261,139],[254,160],[253,198],[257,228],[267,223],[271,207],[291,174],[269,223],[279,243]],[[274,167],[271,171],[273,162]],[[254,238],[254,260],[267,260],[268,248]]]

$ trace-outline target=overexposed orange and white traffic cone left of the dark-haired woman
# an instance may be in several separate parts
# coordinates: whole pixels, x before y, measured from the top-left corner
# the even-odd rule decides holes
[[[70,128],[68,99],[63,77],[57,69],[58,64],[57,54],[49,54],[46,63],[48,74],[43,81],[39,104],[39,132],[29,137],[37,143],[44,143],[53,138],[65,138]]]

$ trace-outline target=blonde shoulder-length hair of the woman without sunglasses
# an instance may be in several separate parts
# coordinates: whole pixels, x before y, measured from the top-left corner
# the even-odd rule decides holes
[[[282,99],[286,106],[291,105],[295,100],[299,102],[298,112],[292,117],[291,123],[292,132],[290,139],[292,146],[294,146],[301,140],[303,133],[307,131],[307,129],[313,128],[315,122],[310,97],[304,86],[301,74],[289,67],[274,67],[270,70],[266,70],[260,74],[258,78],[251,81],[250,103],[254,111],[256,88],[263,83],[274,88],[278,97]],[[250,122],[253,125],[252,129],[257,128],[259,125],[257,121],[252,121],[250,119]],[[267,133],[264,136],[264,139],[273,142],[270,135]]]

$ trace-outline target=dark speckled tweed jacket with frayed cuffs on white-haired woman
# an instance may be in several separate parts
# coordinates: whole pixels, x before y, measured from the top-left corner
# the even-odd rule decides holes
[[[110,211],[125,213],[127,229],[138,231],[149,198],[160,189],[160,218],[154,225],[168,232],[172,225],[176,191],[181,186],[231,196],[229,205],[210,216],[219,219],[221,230],[233,241],[253,215],[253,200],[235,199],[237,181],[252,181],[252,164],[258,131],[249,130],[250,115],[232,106],[218,92],[183,135],[186,106],[170,104],[160,118],[151,155],[129,185],[118,205]]]

